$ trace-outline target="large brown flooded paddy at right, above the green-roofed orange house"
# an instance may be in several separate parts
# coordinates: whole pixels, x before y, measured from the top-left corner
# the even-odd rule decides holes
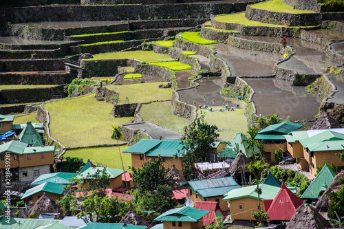
[[[312,120],[320,106],[317,96],[308,94],[303,87],[292,87],[290,83],[275,78],[244,78],[255,90],[252,100],[257,114],[270,116],[274,113],[295,120]]]

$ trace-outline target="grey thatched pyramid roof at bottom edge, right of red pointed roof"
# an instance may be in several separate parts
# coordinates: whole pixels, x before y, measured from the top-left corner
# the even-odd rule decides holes
[[[290,219],[286,229],[332,228],[331,224],[309,204],[301,204]]]

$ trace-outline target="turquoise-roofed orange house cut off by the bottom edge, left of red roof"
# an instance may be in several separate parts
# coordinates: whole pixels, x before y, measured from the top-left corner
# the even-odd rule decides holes
[[[164,229],[200,229],[203,227],[202,217],[208,214],[208,212],[210,210],[200,210],[184,206],[168,210],[155,218],[154,221],[162,221]]]

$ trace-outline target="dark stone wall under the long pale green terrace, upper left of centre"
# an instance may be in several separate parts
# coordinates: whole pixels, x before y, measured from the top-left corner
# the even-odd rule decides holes
[[[136,67],[141,61],[135,59],[119,59],[119,60],[83,60],[81,66],[85,68],[85,72],[89,76],[115,76],[118,74],[119,66]]]

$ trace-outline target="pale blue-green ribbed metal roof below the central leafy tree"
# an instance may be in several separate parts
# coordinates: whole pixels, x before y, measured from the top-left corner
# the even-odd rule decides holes
[[[186,184],[189,184],[193,191],[200,194],[203,198],[223,196],[228,193],[229,190],[241,188],[233,177],[193,180],[185,182],[181,184],[181,186]]]

